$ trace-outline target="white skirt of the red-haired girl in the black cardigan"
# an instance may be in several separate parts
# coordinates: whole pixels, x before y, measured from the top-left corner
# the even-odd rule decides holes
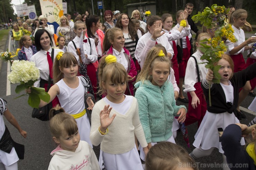
[[[215,147],[219,149],[220,153],[224,153],[218,128],[222,128],[224,131],[227,126],[234,123],[240,123],[234,113],[225,112],[216,114],[206,111],[202,123],[195,134],[194,147],[199,148],[201,146],[204,150]],[[241,145],[245,145],[244,138],[241,139]]]

